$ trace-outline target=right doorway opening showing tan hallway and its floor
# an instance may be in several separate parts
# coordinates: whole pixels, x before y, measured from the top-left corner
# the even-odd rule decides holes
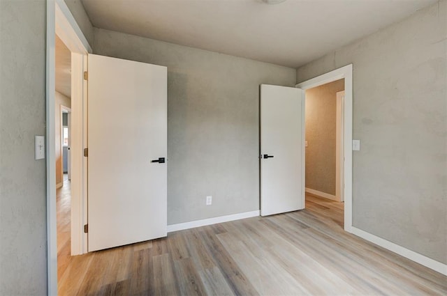
[[[344,79],[305,91],[306,208],[319,208],[343,227]]]

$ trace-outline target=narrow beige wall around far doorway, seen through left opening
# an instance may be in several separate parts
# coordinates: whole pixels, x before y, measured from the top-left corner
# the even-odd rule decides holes
[[[61,116],[61,106],[71,107],[70,98],[62,95],[61,93],[56,91],[56,106],[54,108],[54,123],[56,123],[55,127],[55,148],[56,148],[56,185],[60,187],[62,182],[64,182],[64,173],[62,171],[63,157],[62,157],[62,139],[61,139],[61,125],[62,125],[62,116]]]

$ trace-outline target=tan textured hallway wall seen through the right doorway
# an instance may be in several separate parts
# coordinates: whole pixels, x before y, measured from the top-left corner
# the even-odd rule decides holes
[[[337,92],[344,79],[306,91],[306,188],[335,195]]]

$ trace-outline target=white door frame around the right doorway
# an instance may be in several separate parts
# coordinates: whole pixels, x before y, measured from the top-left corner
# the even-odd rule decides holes
[[[352,232],[352,119],[353,119],[353,91],[352,91],[353,65],[345,65],[331,72],[296,84],[296,87],[307,90],[329,82],[344,79],[344,109],[343,109],[343,137],[344,137],[344,230]]]

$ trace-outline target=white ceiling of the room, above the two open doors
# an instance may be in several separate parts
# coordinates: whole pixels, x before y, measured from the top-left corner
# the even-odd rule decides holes
[[[82,0],[103,29],[298,68],[437,0]]]

